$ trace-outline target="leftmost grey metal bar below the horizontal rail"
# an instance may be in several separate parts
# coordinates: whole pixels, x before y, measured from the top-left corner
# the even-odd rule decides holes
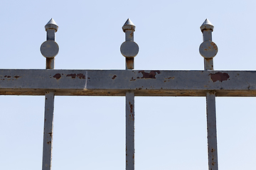
[[[43,170],[51,169],[51,158],[53,148],[53,110],[54,92],[46,92],[44,129],[43,129]]]

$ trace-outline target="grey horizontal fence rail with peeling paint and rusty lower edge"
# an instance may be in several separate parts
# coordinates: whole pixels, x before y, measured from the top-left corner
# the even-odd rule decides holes
[[[256,71],[0,69],[0,95],[256,96]]]

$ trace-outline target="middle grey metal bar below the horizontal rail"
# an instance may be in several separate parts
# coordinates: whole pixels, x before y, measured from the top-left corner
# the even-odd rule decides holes
[[[134,170],[134,92],[125,94],[126,98],[126,170]]]

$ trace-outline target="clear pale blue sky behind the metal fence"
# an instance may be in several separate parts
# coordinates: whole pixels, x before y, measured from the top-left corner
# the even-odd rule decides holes
[[[255,70],[256,1],[1,1],[1,69],[45,69],[40,46],[58,24],[55,69],[124,69],[130,18],[135,69],[202,70],[200,26],[215,70]],[[44,96],[0,96],[1,169],[41,169]],[[125,169],[124,97],[55,96],[52,169]],[[219,169],[255,169],[256,98],[216,98]],[[205,97],[135,97],[135,169],[208,169]]]

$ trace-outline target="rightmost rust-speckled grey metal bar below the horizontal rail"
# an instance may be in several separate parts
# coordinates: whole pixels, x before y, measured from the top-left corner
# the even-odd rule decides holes
[[[218,170],[217,128],[215,111],[215,92],[206,94],[208,169]]]

